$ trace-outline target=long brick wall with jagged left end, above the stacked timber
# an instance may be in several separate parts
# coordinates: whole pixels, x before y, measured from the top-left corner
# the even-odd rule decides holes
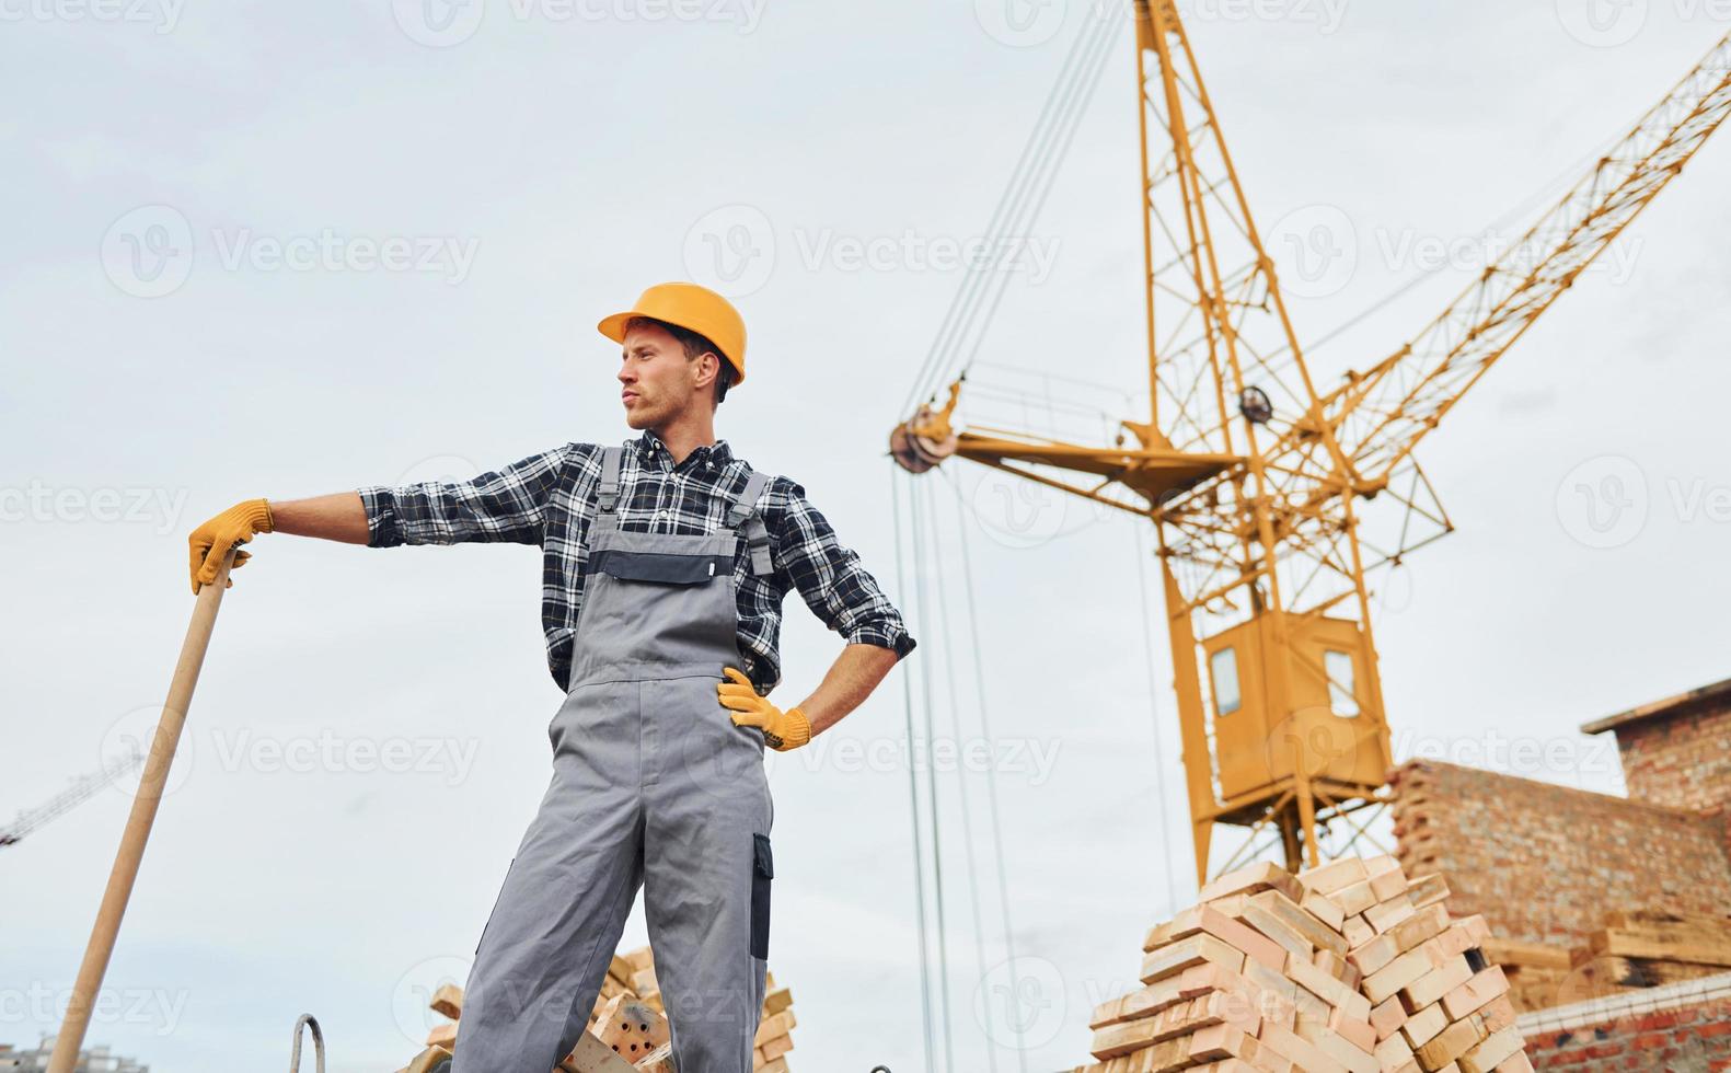
[[[1497,938],[1577,947],[1612,909],[1731,912],[1722,815],[1425,760],[1390,784],[1406,872],[1442,872],[1449,912]]]

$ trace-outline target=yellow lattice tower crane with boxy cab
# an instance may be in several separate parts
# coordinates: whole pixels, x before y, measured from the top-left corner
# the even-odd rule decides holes
[[[1731,35],[1411,343],[1319,389],[1177,9],[1134,0],[1134,22],[1146,419],[1111,447],[962,427],[957,379],[890,452],[911,472],[973,459],[1155,523],[1205,883],[1217,824],[1250,829],[1239,853],[1277,831],[1298,869],[1321,862],[1319,827],[1362,834],[1354,813],[1385,801],[1366,575],[1452,528],[1412,450],[1726,118]],[[1380,511],[1400,514],[1392,542],[1366,533]]]

